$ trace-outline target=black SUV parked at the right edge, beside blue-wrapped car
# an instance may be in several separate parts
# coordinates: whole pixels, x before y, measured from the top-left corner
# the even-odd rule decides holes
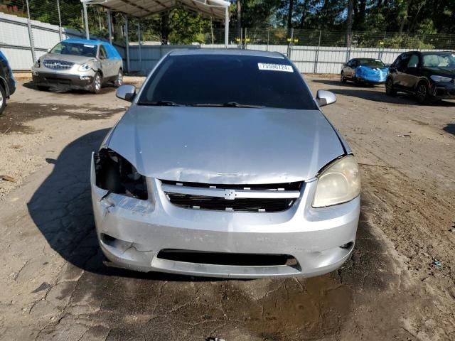
[[[425,104],[434,99],[455,99],[455,52],[402,53],[389,67],[385,92],[414,94]]]

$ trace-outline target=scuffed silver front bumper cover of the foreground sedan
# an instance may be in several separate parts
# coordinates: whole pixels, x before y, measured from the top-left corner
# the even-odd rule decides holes
[[[169,185],[155,178],[146,178],[144,200],[109,193],[96,176],[92,158],[97,237],[115,266],[191,276],[310,277],[338,269],[353,250],[359,197],[314,209],[316,180],[301,186],[287,210],[226,212],[174,205]]]

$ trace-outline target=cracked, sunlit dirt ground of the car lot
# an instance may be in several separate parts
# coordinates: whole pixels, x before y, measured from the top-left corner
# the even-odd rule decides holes
[[[90,152],[127,107],[38,92],[0,116],[0,340],[455,340],[455,102],[306,76],[358,157],[353,257],[316,278],[252,281],[105,268]],[[131,79],[130,82],[140,82]]]

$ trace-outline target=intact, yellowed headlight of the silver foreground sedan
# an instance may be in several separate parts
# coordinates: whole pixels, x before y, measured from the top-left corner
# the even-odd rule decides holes
[[[313,207],[326,207],[353,200],[360,194],[358,163],[352,155],[334,161],[318,176]]]

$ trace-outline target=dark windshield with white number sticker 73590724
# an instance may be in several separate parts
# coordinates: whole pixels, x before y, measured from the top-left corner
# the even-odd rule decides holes
[[[171,55],[144,86],[138,104],[316,109],[299,71],[284,58]]]

